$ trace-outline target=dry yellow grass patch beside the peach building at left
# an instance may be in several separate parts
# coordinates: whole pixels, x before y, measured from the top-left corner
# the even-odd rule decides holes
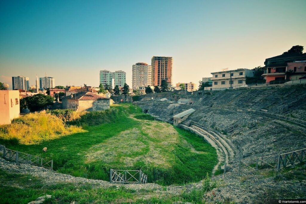
[[[66,126],[60,118],[45,111],[29,113],[13,120],[9,125],[0,126],[1,139],[17,139],[19,143],[26,145],[76,132],[84,130],[76,126]]]

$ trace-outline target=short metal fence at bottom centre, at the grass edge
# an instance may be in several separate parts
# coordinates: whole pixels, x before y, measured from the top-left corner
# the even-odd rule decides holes
[[[110,183],[146,184],[147,175],[141,170],[114,170],[110,169]]]

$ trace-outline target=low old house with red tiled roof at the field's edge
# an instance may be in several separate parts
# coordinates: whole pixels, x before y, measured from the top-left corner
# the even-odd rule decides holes
[[[63,109],[80,111],[97,111],[110,109],[110,98],[92,92],[77,92],[62,98]]]

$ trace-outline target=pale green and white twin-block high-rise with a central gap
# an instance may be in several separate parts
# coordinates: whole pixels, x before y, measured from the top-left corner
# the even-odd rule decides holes
[[[110,72],[109,70],[101,70],[100,71],[100,83],[103,84],[105,87],[106,84],[113,87],[113,81],[114,79],[114,86],[118,85],[119,87],[123,87],[126,83],[126,73],[122,70],[118,70],[115,72]]]

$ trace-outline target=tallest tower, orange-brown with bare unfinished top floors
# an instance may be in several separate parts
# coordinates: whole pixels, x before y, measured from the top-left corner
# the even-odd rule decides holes
[[[152,86],[160,86],[162,80],[172,85],[172,61],[172,57],[152,57]]]

